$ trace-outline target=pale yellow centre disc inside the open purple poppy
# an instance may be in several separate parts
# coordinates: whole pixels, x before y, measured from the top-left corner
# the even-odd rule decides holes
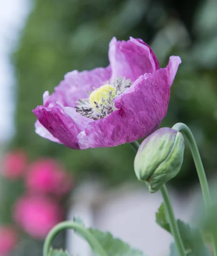
[[[98,105],[102,104],[102,98],[104,100],[109,99],[109,92],[112,91],[112,95],[111,98],[113,99],[114,95],[115,95],[115,91],[116,89],[110,85],[110,84],[104,84],[101,87],[97,88],[96,90],[94,90],[90,96],[89,96],[89,102],[90,102],[90,106],[92,108],[96,108],[96,105],[94,102],[97,102]]]

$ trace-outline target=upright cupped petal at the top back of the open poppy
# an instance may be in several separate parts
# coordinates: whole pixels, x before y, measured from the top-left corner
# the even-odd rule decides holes
[[[109,44],[109,60],[112,79],[122,76],[134,82],[139,76],[159,69],[150,47],[142,39],[132,37],[128,41],[117,41],[114,37]]]

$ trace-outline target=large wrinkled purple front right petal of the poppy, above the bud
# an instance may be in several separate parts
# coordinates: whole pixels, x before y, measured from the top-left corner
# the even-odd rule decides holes
[[[140,76],[114,100],[118,110],[89,123],[78,134],[80,148],[117,146],[155,131],[167,113],[171,83],[180,63],[179,57],[171,56],[166,68]]]

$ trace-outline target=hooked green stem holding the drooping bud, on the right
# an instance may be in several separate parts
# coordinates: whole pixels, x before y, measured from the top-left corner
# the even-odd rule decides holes
[[[182,131],[182,134],[184,134],[188,140],[188,143],[191,148],[191,154],[193,156],[194,163],[195,163],[195,166],[197,169],[197,174],[198,174],[198,177],[200,180],[200,186],[201,186],[201,190],[202,190],[202,194],[203,194],[203,200],[204,200],[205,209],[207,212],[209,207],[211,206],[211,197],[210,197],[210,193],[209,193],[209,187],[208,187],[208,182],[206,179],[205,171],[203,168],[203,163],[201,161],[200,153],[197,148],[197,144],[194,139],[194,136],[193,136],[191,130],[188,128],[188,126],[183,123],[176,123],[172,127],[172,129],[174,129],[176,131]],[[217,256],[217,238],[215,238],[213,234],[212,234],[212,241],[213,241],[213,247],[214,247],[214,255]]]

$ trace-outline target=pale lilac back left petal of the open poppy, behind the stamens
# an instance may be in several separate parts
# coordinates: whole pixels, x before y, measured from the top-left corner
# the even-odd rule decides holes
[[[111,77],[110,66],[95,68],[93,70],[78,72],[73,70],[64,76],[64,80],[55,87],[55,92],[49,96],[48,92],[43,95],[43,105],[52,108],[60,102],[65,107],[74,108],[78,99],[87,98],[88,90],[100,87]]]

